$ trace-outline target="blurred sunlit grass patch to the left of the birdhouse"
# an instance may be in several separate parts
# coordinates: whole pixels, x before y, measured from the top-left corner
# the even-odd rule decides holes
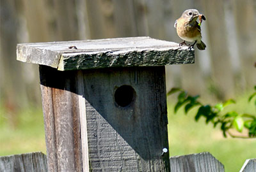
[[[15,125],[8,112],[0,108],[0,156],[28,152],[46,152],[44,118],[40,108],[18,111]]]

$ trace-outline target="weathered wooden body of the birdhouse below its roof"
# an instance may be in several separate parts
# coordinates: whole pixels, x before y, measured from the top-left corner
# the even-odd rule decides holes
[[[82,71],[40,66],[40,77],[49,171],[81,171],[75,150],[83,152],[84,171],[170,170],[169,154],[162,156],[168,148],[164,66]],[[134,89],[125,107],[129,94],[116,95],[122,85]]]

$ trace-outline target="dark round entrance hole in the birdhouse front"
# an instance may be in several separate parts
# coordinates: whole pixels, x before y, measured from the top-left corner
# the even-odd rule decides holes
[[[130,85],[122,85],[115,91],[115,102],[121,107],[128,106],[134,99],[135,91]]]

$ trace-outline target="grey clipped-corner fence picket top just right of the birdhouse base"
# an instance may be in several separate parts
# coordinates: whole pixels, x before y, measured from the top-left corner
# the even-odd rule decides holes
[[[224,166],[209,152],[170,158],[170,172],[224,172]]]

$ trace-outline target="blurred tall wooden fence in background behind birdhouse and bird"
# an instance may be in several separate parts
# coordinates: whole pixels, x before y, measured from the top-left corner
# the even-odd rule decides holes
[[[196,52],[193,65],[166,67],[167,88],[228,98],[256,83],[254,0],[0,0],[0,5],[0,97],[11,112],[40,103],[38,69],[15,61],[17,43],[127,36],[180,42],[173,24],[188,8],[207,18],[202,24],[207,49]]]

